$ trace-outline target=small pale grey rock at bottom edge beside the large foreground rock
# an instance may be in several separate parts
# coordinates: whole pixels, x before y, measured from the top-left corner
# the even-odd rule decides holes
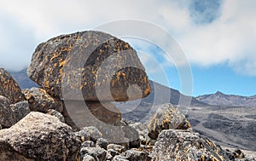
[[[107,159],[107,151],[101,147],[82,147],[80,156],[84,158],[85,155],[90,155],[97,161],[105,161]]]

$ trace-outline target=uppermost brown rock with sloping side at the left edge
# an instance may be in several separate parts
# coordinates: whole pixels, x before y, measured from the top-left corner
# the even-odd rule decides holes
[[[24,101],[24,95],[15,79],[5,69],[0,68],[0,95],[8,98],[10,103]]]

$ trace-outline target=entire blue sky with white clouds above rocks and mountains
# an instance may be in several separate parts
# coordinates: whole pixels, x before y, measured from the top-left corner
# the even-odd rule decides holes
[[[165,47],[172,48],[172,43],[164,38],[166,46],[160,47],[140,38],[123,37],[137,49],[149,78],[186,95],[216,91],[256,95],[254,0],[0,0],[0,3],[0,67],[9,71],[28,66],[36,46],[51,37],[94,30],[117,20],[141,20],[168,32],[172,43],[183,51],[182,54],[166,51]],[[160,38],[156,32],[143,32],[153,39]],[[183,70],[183,64],[172,56],[166,56],[169,54],[184,55],[189,71]],[[187,87],[187,82],[191,86]]]

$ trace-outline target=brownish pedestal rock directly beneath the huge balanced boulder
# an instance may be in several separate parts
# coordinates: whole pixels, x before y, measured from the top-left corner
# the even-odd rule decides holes
[[[125,141],[121,115],[110,102],[64,101],[64,105],[63,116],[73,129],[95,126],[109,142]]]

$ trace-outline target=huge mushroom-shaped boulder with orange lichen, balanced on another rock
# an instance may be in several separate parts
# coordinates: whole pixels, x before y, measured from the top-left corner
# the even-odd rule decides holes
[[[136,51],[104,32],[76,32],[39,44],[27,75],[65,100],[127,101],[150,93]]]

